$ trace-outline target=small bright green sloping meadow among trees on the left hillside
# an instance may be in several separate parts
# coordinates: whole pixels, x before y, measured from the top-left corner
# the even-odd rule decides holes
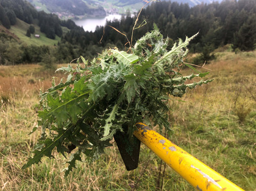
[[[39,34],[40,38],[36,38],[34,34],[31,34],[30,37],[26,36],[27,29],[29,29],[30,24],[25,23],[24,21],[21,21],[20,19],[17,19],[17,23],[15,26],[12,26],[10,29],[10,32],[15,33],[18,38],[20,38],[21,41],[24,41],[24,43],[31,45],[35,44],[38,46],[46,45],[46,46],[54,46],[54,44],[57,44],[58,41],[60,41],[59,36],[55,36],[55,40],[52,40],[50,38],[46,38],[46,35],[42,32],[40,32],[40,27],[35,27],[35,34]]]

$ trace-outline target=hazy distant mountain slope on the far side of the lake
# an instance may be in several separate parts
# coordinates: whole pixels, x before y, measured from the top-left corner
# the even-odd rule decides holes
[[[62,19],[76,16],[105,16],[107,13],[126,13],[126,10],[137,12],[144,4],[143,0],[28,0],[37,10],[55,13]],[[166,0],[170,1],[170,0]],[[202,3],[221,2],[222,0],[171,0],[190,7]]]

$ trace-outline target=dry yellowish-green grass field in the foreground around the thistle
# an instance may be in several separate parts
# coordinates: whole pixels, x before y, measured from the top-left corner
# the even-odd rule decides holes
[[[209,85],[171,99],[169,140],[244,190],[256,188],[256,52],[217,52]],[[206,69],[199,69],[208,71]],[[191,70],[184,69],[184,74]],[[60,79],[62,74],[57,75]],[[0,66],[0,187],[2,190],[157,190],[160,159],[141,147],[136,170],[127,172],[114,143],[98,161],[78,163],[64,177],[63,157],[44,158],[21,170],[40,132],[38,94],[51,86],[51,75],[38,65]],[[179,100],[185,102],[179,102]],[[157,130],[157,128],[155,127]],[[163,190],[193,190],[170,167]],[[160,184],[158,184],[160,182]]]

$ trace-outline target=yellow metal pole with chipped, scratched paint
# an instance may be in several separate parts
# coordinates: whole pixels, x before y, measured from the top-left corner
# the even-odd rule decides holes
[[[147,125],[137,123],[137,127],[133,135],[197,190],[243,190]]]

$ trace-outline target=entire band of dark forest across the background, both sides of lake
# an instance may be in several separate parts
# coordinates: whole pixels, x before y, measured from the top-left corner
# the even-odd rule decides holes
[[[140,14],[137,27],[133,34],[135,40],[152,30],[156,23],[163,35],[172,39],[184,39],[199,32],[199,35],[191,42],[191,52],[207,52],[209,54],[218,47],[232,44],[235,51],[254,50],[256,44],[256,1],[222,1],[212,4],[200,4],[190,7],[188,4],[177,2],[154,2],[146,7]],[[1,24],[6,29],[15,26],[17,19],[32,26],[39,26],[40,32],[46,37],[54,39],[59,36],[61,40],[54,47],[40,47],[37,44],[27,46],[26,41],[21,42],[6,30],[0,33],[0,64],[9,63],[38,63],[44,55],[51,55],[56,62],[65,63],[83,55],[87,59],[93,58],[106,47],[118,47],[124,49],[126,38],[111,27],[98,27],[95,32],[85,32],[73,21],[62,21],[56,15],[45,12],[37,12],[28,2],[22,0],[0,0]],[[127,35],[130,40],[135,17],[123,16],[121,21],[108,22],[112,26]],[[66,32],[63,35],[63,27]],[[30,27],[27,27],[29,30]],[[31,27],[32,28],[32,27]],[[32,30],[33,31],[33,30]],[[29,31],[27,35],[29,36]],[[101,43],[101,37],[104,33]],[[26,31],[24,32],[26,35]],[[11,42],[11,43],[10,43]],[[12,46],[11,46],[11,45]],[[11,58],[9,51],[15,47],[15,52],[21,52],[19,57]],[[33,51],[32,51],[33,50]]]

